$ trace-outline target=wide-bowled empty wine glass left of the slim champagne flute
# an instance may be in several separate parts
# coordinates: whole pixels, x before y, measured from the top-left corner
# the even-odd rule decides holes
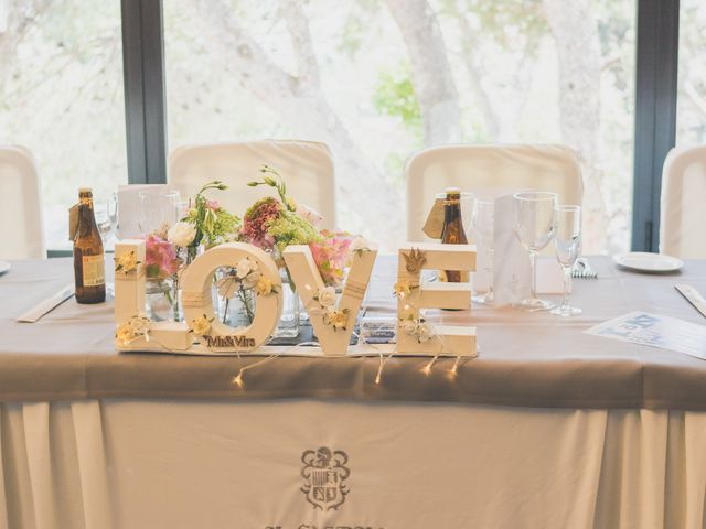
[[[526,311],[547,311],[554,306],[550,301],[537,298],[537,253],[552,240],[555,230],[555,207],[557,194],[546,191],[525,191],[513,195],[515,237],[530,252],[531,288],[530,298],[522,300],[518,307]]]

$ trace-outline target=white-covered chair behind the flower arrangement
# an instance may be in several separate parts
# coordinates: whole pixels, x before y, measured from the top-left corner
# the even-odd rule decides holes
[[[214,198],[229,212],[242,216],[256,199],[275,191],[246,185],[261,180],[263,164],[276,169],[284,176],[290,196],[323,216],[321,227],[335,227],[333,159],[324,143],[261,140],[184,145],[169,156],[169,182],[182,196],[193,196],[206,182],[223,181],[229,190],[214,195]]]

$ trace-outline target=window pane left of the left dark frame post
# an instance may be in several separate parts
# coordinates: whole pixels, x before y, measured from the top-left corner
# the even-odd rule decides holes
[[[121,50],[117,0],[0,0],[0,144],[34,154],[50,249],[79,186],[127,183]]]

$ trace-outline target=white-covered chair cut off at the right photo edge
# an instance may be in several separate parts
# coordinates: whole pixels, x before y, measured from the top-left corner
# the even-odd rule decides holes
[[[706,145],[675,148],[662,170],[660,251],[706,258]]]

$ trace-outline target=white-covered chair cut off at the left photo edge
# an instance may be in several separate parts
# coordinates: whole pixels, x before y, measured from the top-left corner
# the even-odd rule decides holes
[[[24,147],[0,147],[0,259],[43,259],[40,180]]]

